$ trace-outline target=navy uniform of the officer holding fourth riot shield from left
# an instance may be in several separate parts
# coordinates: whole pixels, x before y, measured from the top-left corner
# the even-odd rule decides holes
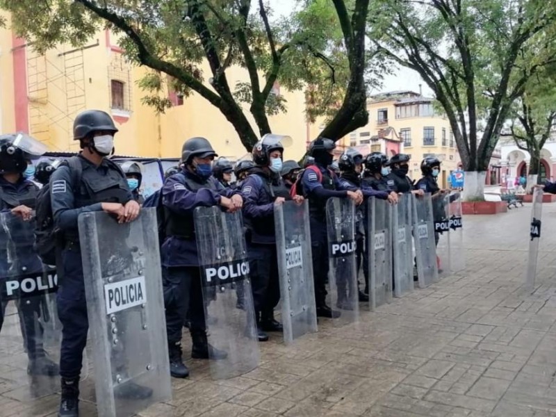
[[[260,168],[243,181],[241,192],[254,308],[262,321],[272,320],[280,300],[274,202],[277,197],[291,197],[280,177],[270,177]]]

